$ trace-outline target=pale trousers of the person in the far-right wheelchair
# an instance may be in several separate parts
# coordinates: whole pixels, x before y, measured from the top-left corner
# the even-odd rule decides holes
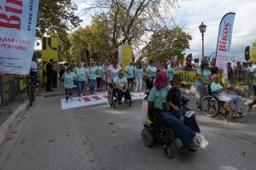
[[[238,95],[218,94],[219,101],[229,102],[233,111],[241,111],[241,97]]]

